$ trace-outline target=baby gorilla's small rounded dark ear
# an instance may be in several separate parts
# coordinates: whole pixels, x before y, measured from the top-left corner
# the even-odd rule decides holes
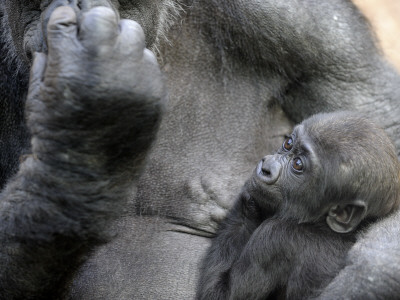
[[[329,209],[326,223],[337,233],[347,233],[360,224],[366,213],[367,205],[362,200],[346,205],[335,205]]]

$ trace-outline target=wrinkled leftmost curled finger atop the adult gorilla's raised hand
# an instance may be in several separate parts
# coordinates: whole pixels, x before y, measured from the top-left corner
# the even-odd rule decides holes
[[[49,51],[52,49],[65,49],[63,47],[66,37],[75,36],[77,28],[77,17],[74,10],[69,6],[57,7],[50,16],[47,24],[47,44]]]

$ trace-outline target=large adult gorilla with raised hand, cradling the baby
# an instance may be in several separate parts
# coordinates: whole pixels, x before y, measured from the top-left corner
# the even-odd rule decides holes
[[[145,65],[122,59],[135,48],[132,43],[127,51],[119,47],[112,59],[108,52],[97,51],[95,41],[103,36],[99,28],[108,28],[99,24],[117,28],[109,10],[92,9],[98,5],[142,25],[147,47],[157,50],[166,74],[167,110],[138,181],[133,174],[140,169],[137,158],[155,135],[157,114],[151,116],[146,110],[154,120],[143,124],[143,116],[119,100],[140,98],[151,104],[162,98],[159,74],[151,58]],[[46,26],[58,6],[71,8],[61,9],[67,12],[64,17],[58,14],[50,22],[48,28],[63,32],[57,36],[60,40],[53,40],[55,35]],[[3,297],[193,298],[199,262],[232,205],[230,200],[255,162],[280,145],[294,122],[316,112],[357,109],[377,116],[399,149],[400,77],[382,58],[367,23],[349,1],[5,0],[0,13],[2,57],[6,57],[0,74],[1,100],[2,107],[10,107],[0,112],[3,183],[16,172],[18,157],[26,149],[21,99],[27,91],[32,53],[52,50],[49,58],[58,60],[47,64],[50,78],[61,86],[65,81],[69,86],[68,80],[74,78],[75,88],[72,94],[42,89],[39,95],[31,88],[34,155],[9,179],[0,206]],[[82,21],[85,13],[99,23],[87,26],[90,22]],[[121,24],[125,28],[126,23]],[[71,26],[80,29],[68,31],[77,32],[78,42],[65,47],[64,38],[71,36],[63,30]],[[112,31],[107,34],[112,36]],[[136,38],[140,44],[140,32]],[[93,50],[87,53],[110,59],[88,56],[83,51],[87,46]],[[64,53],[69,56],[61,64]],[[35,59],[42,71],[45,57]],[[109,70],[116,70],[116,77]],[[40,77],[33,72],[33,84]],[[152,89],[141,89],[141,83]],[[60,92],[58,85],[52,88]],[[60,97],[63,101],[58,102]],[[107,99],[112,105],[101,101],[96,102],[99,107],[94,102],[84,105],[77,99]],[[114,104],[121,118],[111,109]],[[91,124],[106,126],[90,127],[83,121],[85,114]],[[118,126],[111,126],[114,122]],[[135,128],[142,126],[146,130],[138,136],[128,134],[136,134]],[[42,143],[52,151],[41,148]],[[137,143],[142,147],[129,152],[129,146]],[[10,154],[12,158],[3,159]],[[130,168],[132,161],[135,165]],[[37,167],[41,162],[46,168]],[[131,176],[137,189],[127,202],[118,201],[125,198]],[[90,192],[91,187],[96,189]],[[24,198],[15,201],[21,193],[35,201],[27,206]],[[48,203],[56,203],[51,214],[46,214]],[[124,203],[123,212],[113,203]],[[39,218],[36,210],[47,218]],[[110,223],[116,212],[117,222]],[[395,263],[400,251],[398,218],[376,225],[355,245],[348,266],[323,292],[324,299],[400,294],[400,267]],[[108,231],[117,234],[98,246]]]

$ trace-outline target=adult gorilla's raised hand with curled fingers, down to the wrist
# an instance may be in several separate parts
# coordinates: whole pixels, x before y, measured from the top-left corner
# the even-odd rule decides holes
[[[107,171],[137,164],[154,139],[165,98],[141,27],[118,23],[105,7],[78,20],[64,6],[47,28],[48,55],[36,54],[28,95],[33,152]]]

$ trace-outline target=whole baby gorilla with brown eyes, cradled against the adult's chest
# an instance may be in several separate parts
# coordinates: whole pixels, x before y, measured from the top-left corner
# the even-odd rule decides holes
[[[315,115],[264,157],[203,261],[198,299],[317,297],[357,233],[399,206],[385,132],[348,112]]]

